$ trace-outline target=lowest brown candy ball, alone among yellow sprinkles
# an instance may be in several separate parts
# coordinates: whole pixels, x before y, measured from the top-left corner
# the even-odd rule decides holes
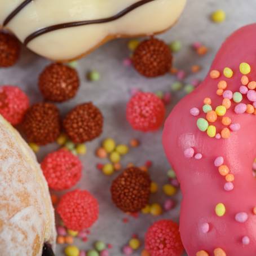
[[[138,167],[129,167],[113,180],[112,200],[122,211],[136,213],[149,201],[151,179]]]

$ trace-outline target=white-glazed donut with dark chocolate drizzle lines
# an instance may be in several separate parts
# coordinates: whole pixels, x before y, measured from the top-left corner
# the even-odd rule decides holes
[[[0,26],[48,59],[80,58],[118,37],[172,27],[186,0],[1,0]]]

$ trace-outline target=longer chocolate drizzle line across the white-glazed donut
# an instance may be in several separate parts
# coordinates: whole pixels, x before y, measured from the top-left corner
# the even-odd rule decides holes
[[[42,28],[37,30],[36,32],[33,32],[30,34],[27,38],[24,40],[24,44],[28,45],[30,41],[32,41],[34,38],[42,36],[42,34],[46,34],[58,29],[64,29],[64,28],[71,28],[71,27],[78,27],[78,26],[83,26],[83,25],[91,25],[91,24],[100,24],[100,23],[108,23],[110,21],[114,21],[119,19],[122,16],[125,16],[129,12],[135,10],[136,8],[145,5],[146,3],[153,2],[155,0],[140,0],[139,2],[134,3],[133,5],[130,5],[123,9],[122,11],[118,12],[118,14],[103,18],[103,19],[96,19],[96,20],[83,20],[83,21],[73,21],[69,23],[61,23],[61,24],[56,24],[52,25],[50,27]]]

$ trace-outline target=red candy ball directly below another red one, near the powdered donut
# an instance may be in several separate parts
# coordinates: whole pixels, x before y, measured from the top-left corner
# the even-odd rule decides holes
[[[99,205],[88,191],[76,189],[61,198],[57,212],[67,228],[81,231],[96,222]]]

